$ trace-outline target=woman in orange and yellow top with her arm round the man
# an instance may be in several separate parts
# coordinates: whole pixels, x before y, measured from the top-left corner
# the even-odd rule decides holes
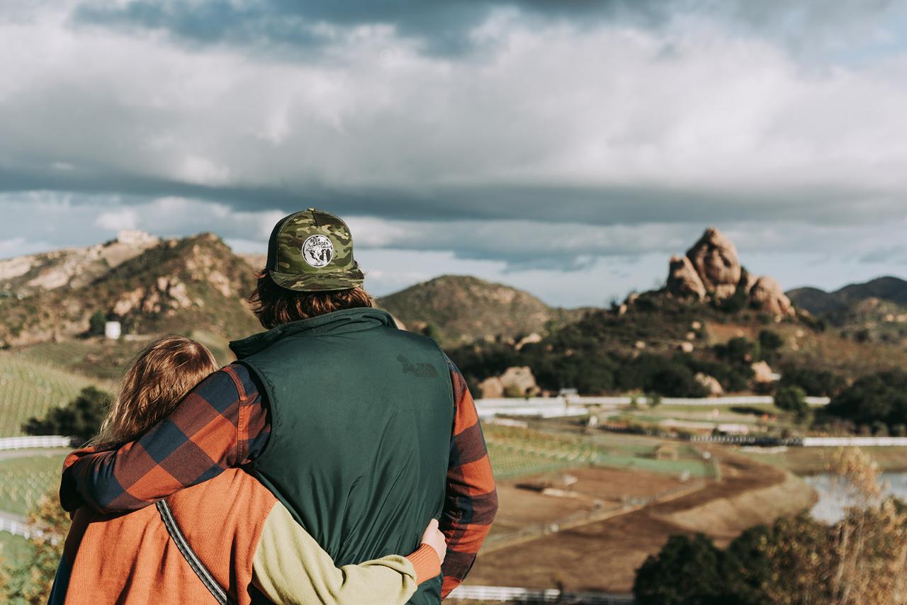
[[[135,440],[217,369],[198,342],[155,341],[124,376],[93,444],[101,449]],[[152,462],[157,453],[148,454]],[[421,546],[406,557],[337,569],[283,504],[239,469],[165,502],[128,514],[87,506],[76,511],[50,602],[245,604],[264,595],[278,603],[402,605],[418,583],[440,573],[444,559],[444,535],[433,520]]]

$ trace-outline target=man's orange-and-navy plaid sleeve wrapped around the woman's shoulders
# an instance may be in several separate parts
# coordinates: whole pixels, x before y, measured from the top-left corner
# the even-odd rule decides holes
[[[137,441],[85,448],[63,463],[60,502],[99,512],[143,508],[253,460],[268,442],[268,408],[244,366],[220,369]]]

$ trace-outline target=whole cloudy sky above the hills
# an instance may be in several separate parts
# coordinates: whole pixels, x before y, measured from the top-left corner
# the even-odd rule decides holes
[[[787,288],[907,275],[907,2],[4,0],[0,258],[348,219],[376,294],[603,304],[708,225]]]

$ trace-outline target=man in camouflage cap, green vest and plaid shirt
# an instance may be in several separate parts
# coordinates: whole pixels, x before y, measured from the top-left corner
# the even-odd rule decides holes
[[[442,575],[410,601],[437,603],[490,529],[491,465],[459,370],[373,308],[363,279],[342,220],[314,209],[280,220],[249,298],[268,331],[230,343],[238,361],[138,441],[81,453],[63,507],[132,511],[243,466],[337,565],[412,550],[440,518]]]

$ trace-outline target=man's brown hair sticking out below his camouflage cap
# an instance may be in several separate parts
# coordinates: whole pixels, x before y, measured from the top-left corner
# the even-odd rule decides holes
[[[258,285],[249,296],[249,304],[258,322],[267,329],[345,308],[373,306],[373,298],[359,286],[346,290],[298,292],[278,286],[267,269],[258,272],[257,277]]]

